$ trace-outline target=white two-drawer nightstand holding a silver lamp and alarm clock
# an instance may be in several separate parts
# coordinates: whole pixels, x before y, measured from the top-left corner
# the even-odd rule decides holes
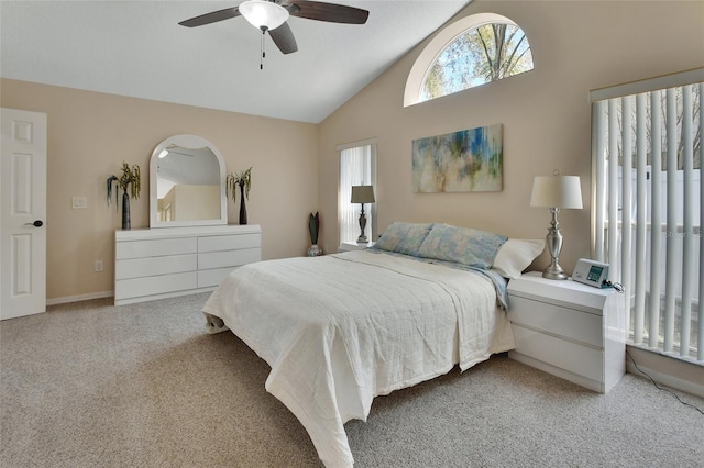
[[[624,376],[623,294],[532,271],[508,282],[508,301],[510,358],[601,393]]]

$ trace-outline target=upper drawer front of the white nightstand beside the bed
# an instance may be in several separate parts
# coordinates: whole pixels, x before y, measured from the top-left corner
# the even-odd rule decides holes
[[[509,297],[512,323],[604,347],[602,316],[521,297]]]

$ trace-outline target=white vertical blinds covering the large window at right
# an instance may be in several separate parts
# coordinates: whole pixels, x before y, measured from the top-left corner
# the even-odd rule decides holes
[[[625,286],[629,341],[704,360],[704,68],[593,91],[593,256]]]

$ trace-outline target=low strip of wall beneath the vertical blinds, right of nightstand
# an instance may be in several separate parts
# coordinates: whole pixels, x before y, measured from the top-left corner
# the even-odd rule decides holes
[[[658,383],[704,398],[704,366],[688,363],[637,346],[626,347],[631,358],[626,358],[626,370],[636,376],[650,377]],[[644,375],[647,374],[647,376]]]

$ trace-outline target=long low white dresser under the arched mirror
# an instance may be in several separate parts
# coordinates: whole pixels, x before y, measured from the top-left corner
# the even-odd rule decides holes
[[[258,225],[116,231],[116,305],[213,290],[262,259]]]

